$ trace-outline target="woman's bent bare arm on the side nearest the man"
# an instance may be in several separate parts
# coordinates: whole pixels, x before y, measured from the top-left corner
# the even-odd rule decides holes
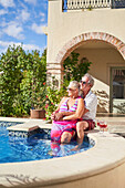
[[[75,113],[72,114],[72,115],[63,117],[63,119],[64,121],[69,121],[69,119],[74,121],[74,119],[81,118],[84,114],[84,109],[85,109],[84,108],[84,101],[83,101],[83,98],[79,98],[77,108],[76,108]]]

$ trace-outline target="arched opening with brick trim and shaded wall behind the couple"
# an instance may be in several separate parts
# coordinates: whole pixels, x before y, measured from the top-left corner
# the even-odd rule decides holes
[[[113,85],[113,69],[125,69],[125,43],[103,32],[84,33],[73,38],[62,48],[56,55],[55,63],[62,64],[64,59],[69,56],[72,51],[80,52],[80,61],[86,58],[93,63],[90,73],[96,81],[94,91],[98,96],[98,112],[115,113],[114,106],[116,106],[116,104],[114,104],[115,100],[113,97],[115,87]],[[124,100],[125,94],[123,94],[123,103]],[[119,103],[117,104],[119,105]],[[116,113],[121,112],[117,111]]]

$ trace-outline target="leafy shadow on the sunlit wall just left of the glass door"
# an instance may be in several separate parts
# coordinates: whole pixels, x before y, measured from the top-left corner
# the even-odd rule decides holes
[[[93,91],[97,96],[97,113],[108,113],[110,96],[105,91]]]

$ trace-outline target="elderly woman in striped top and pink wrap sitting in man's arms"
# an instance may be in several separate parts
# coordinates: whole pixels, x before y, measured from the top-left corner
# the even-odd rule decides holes
[[[70,143],[76,134],[77,119],[84,113],[84,101],[79,96],[80,84],[77,81],[70,82],[67,87],[69,97],[63,97],[59,107],[53,112],[51,118],[53,125],[51,129],[51,140],[58,143]],[[63,117],[56,121],[56,113],[63,113]],[[72,115],[64,116],[65,112],[75,112]]]

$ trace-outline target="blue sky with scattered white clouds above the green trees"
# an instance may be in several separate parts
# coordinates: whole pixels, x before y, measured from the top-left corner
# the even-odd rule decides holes
[[[0,0],[0,54],[23,43],[25,51],[46,48],[48,0]]]

